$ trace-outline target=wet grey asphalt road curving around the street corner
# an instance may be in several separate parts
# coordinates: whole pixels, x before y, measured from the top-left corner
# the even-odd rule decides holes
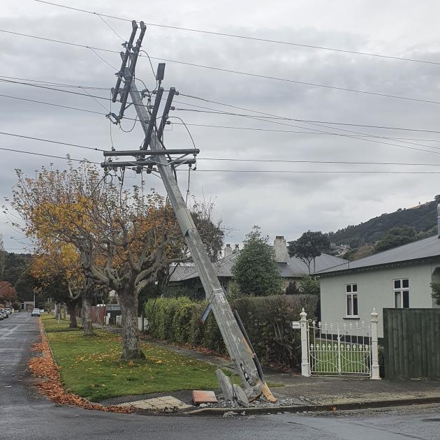
[[[38,318],[0,321],[0,439],[440,439],[440,405],[256,418],[142,416],[87,411],[38,395],[26,371]]]

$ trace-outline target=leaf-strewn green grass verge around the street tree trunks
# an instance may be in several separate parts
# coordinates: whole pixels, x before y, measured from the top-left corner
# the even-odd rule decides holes
[[[146,360],[122,362],[120,335],[95,329],[95,337],[85,337],[81,328],[69,329],[67,321],[58,324],[47,314],[41,319],[64,387],[92,402],[121,395],[218,388],[216,368],[200,360],[142,342]]]

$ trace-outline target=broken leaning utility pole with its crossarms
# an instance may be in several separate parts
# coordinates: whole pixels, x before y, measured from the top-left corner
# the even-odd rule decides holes
[[[156,166],[163,180],[163,184],[166,187],[170,203],[182,230],[184,240],[189,247],[191,257],[198,269],[200,280],[205,289],[206,300],[217,320],[226,349],[228,349],[230,358],[235,364],[235,369],[237,373],[240,374],[248,399],[256,399],[261,393],[263,393],[267,399],[275,401],[276,399],[272,393],[270,393],[270,390],[263,379],[261,369],[257,369],[256,367],[258,360],[252,352],[250,343],[248,343],[244,336],[244,332],[240,330],[240,326],[230,309],[226,295],[223,292],[219,279],[217,279],[217,274],[214,267],[212,267],[210,258],[207,256],[205,246],[200,239],[200,235],[198,234],[193,219],[191,218],[191,214],[186,207],[184,198],[182,197],[182,193],[179,190],[179,186],[177,186],[175,176],[173,175],[176,166],[183,163],[191,166],[192,163],[195,163],[195,159],[185,159],[185,157],[191,154],[195,158],[199,150],[169,150],[163,146],[161,140],[163,129],[168,119],[168,112],[173,110],[171,107],[173,96],[178,94],[178,92],[175,91],[173,87],[170,88],[166,105],[163,110],[161,123],[159,124],[159,127],[156,126],[156,115],[163,95],[163,88],[160,87],[160,85],[163,80],[165,64],[159,64],[158,74],[156,75],[156,80],[159,81],[159,88],[156,91],[156,98],[151,109],[151,106],[142,103],[142,94],[145,93],[145,91],[138,91],[134,80],[135,65],[146,27],[143,22],[140,22],[140,36],[135,45],[133,45],[138,25],[135,21],[132,22],[132,25],[133,30],[129,42],[124,43],[126,50],[125,52],[121,52],[122,67],[117,73],[117,85],[115,89],[112,89],[113,102],[116,102],[118,94],[120,95],[119,101],[121,102],[121,110],[119,116],[112,114],[108,115],[108,117],[110,119],[115,119],[115,123],[118,123],[120,119],[124,117],[124,111],[126,108],[133,104],[145,133],[145,142],[139,150],[104,152],[104,156],[110,157],[110,159],[101,163],[101,166],[110,169],[134,166],[134,169],[138,173],[140,173],[144,167],[147,167],[147,173],[151,173],[153,166]],[[124,87],[121,89],[120,86],[122,81],[124,81]],[[127,98],[129,95],[131,96],[131,103],[127,105]],[[150,147],[149,150],[147,150],[148,147]],[[173,159],[171,157],[173,154],[178,154],[179,157]],[[116,162],[112,161],[111,156],[134,156],[135,160]]]

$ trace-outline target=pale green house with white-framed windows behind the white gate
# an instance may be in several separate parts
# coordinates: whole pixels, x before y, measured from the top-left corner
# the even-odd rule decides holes
[[[384,307],[439,307],[432,282],[440,282],[440,237],[388,249],[357,261],[316,271],[321,283],[321,321],[355,323]]]

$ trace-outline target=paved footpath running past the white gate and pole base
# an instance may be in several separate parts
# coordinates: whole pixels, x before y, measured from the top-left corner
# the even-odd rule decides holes
[[[119,332],[119,328],[107,328]],[[230,360],[220,356],[202,353],[185,347],[167,344],[166,342],[148,339],[149,344],[156,344],[171,351],[190,358],[203,360],[210,365],[233,371]],[[348,376],[310,376],[303,377],[296,374],[277,372],[263,369],[265,380],[279,403],[264,407],[234,409],[241,413],[277,413],[282,411],[335,411],[341,409],[379,408],[386,406],[402,406],[411,404],[427,404],[440,402],[440,380],[412,379],[412,380],[372,380]],[[191,392],[178,391],[168,393],[188,405],[191,405]],[[126,396],[109,399],[103,404],[120,404],[133,399],[147,399],[161,397],[161,393],[145,396]],[[286,404],[288,402],[288,404]],[[281,404],[281,406],[280,406]],[[188,408],[186,413],[197,415],[223,414],[229,408],[204,407]]]

